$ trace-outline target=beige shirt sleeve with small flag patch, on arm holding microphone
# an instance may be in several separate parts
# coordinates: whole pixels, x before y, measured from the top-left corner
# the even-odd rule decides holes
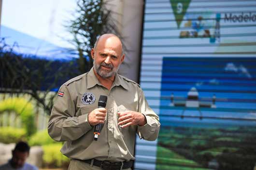
[[[51,116],[48,122],[48,133],[56,141],[73,141],[80,138],[92,127],[85,114],[75,117],[75,100],[66,85],[62,85],[57,93]]]

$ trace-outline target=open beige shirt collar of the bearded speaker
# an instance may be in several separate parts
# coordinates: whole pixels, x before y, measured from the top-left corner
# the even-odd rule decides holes
[[[102,86],[100,84],[100,81],[98,80],[98,78],[95,76],[93,67],[92,67],[87,74],[87,89],[94,87],[96,84]],[[127,84],[125,83],[124,79],[121,78],[121,76],[119,74],[115,74],[113,84],[114,84],[114,86],[121,85],[124,89],[128,90]]]

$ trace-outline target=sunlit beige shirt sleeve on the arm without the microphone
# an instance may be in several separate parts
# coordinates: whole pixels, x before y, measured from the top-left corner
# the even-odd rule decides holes
[[[138,98],[138,112],[142,113],[145,116],[147,123],[144,126],[138,126],[137,133],[140,139],[143,138],[147,141],[154,141],[156,140],[160,129],[159,117],[149,107],[142,90],[139,92]]]

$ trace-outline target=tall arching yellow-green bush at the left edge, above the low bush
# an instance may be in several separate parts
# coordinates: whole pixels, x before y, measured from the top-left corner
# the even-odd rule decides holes
[[[25,98],[13,97],[0,102],[0,113],[4,111],[14,111],[21,117],[22,125],[30,136],[35,132],[33,106]]]

